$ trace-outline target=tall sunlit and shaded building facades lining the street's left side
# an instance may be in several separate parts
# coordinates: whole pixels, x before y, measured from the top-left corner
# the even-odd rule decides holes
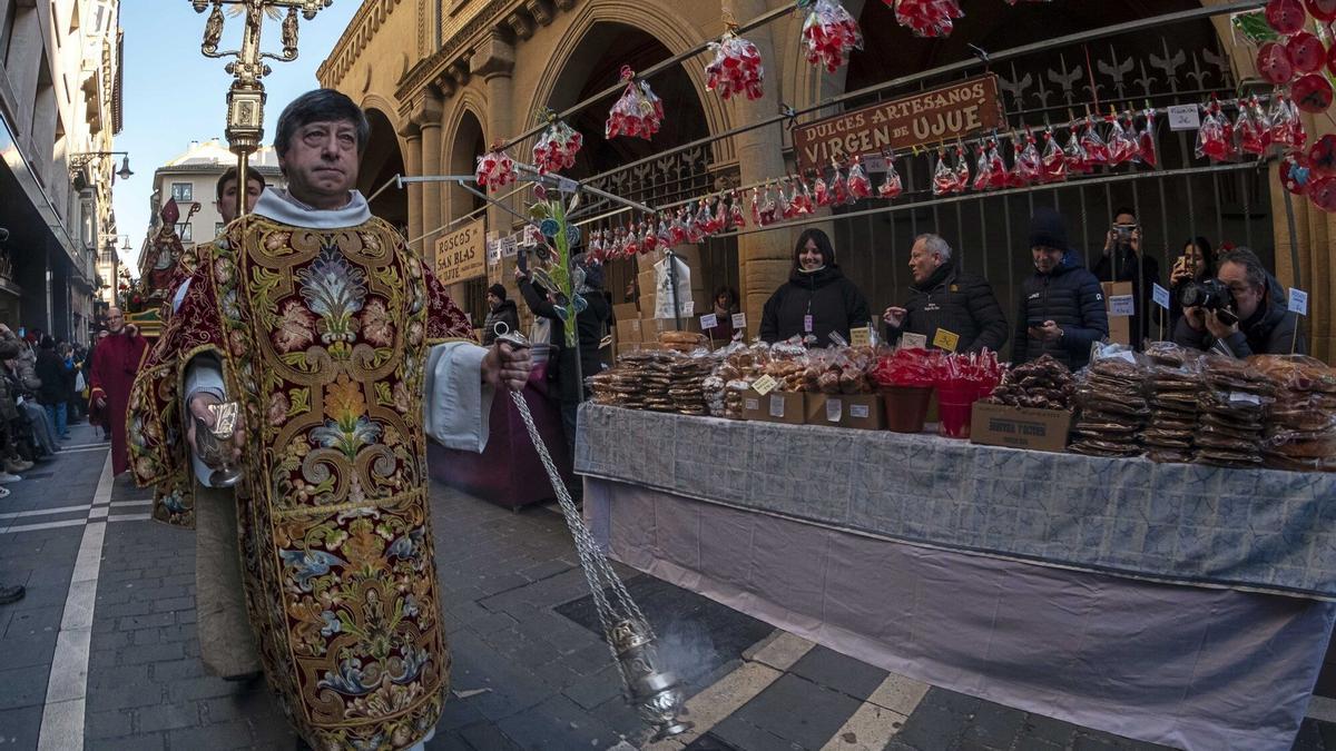
[[[0,321],[86,341],[116,241],[118,0],[0,0]]]

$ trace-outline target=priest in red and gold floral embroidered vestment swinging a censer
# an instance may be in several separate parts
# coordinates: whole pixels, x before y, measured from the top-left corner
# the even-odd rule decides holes
[[[128,418],[150,485],[179,469],[182,436],[195,445],[190,417],[211,424],[210,405],[240,404],[244,607],[270,687],[317,750],[432,738],[450,657],[426,440],[481,450],[494,392],[522,388],[530,366],[524,349],[473,343],[444,287],[351,190],[367,134],[330,90],[283,111],[289,188],[200,254]],[[207,485],[210,468],[191,461]]]

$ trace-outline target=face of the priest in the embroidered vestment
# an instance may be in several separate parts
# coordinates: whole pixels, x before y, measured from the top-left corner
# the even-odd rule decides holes
[[[278,158],[293,198],[315,208],[347,206],[357,184],[357,126],[349,120],[306,123]]]

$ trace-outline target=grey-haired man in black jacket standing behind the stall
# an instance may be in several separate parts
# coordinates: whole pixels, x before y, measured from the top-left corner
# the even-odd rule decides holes
[[[951,246],[938,235],[914,239],[910,249],[912,294],[904,307],[887,307],[886,341],[900,334],[923,334],[930,347],[942,331],[943,341],[955,338],[954,351],[993,351],[1006,343],[1006,315],[993,297],[987,279],[966,274],[951,262]]]

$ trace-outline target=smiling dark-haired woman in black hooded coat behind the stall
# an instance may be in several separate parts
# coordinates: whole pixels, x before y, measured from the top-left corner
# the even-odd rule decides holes
[[[867,298],[839,270],[831,239],[820,230],[804,230],[788,282],[766,301],[760,338],[774,343],[811,335],[818,346],[830,346],[832,331],[848,341],[850,329],[870,325]]]

